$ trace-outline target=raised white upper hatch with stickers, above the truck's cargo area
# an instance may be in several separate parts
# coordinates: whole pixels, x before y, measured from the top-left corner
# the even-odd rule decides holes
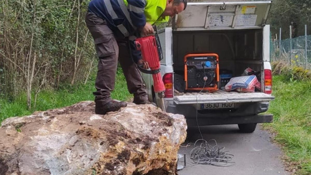
[[[189,2],[173,19],[173,30],[262,28],[272,1]]]

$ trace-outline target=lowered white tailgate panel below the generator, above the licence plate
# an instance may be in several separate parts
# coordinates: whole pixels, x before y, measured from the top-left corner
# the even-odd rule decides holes
[[[187,92],[175,93],[174,102],[176,104],[202,104],[202,103],[244,103],[244,102],[269,102],[275,97],[263,92]]]

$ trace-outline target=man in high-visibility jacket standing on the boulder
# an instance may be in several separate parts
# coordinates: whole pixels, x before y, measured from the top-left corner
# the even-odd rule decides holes
[[[95,80],[95,113],[106,114],[126,107],[110,97],[114,90],[117,62],[123,69],[128,91],[134,94],[135,104],[148,101],[137,64],[131,59],[128,37],[139,31],[142,35],[154,33],[152,24],[167,22],[169,16],[182,12],[187,0],[92,0],[86,13],[86,25],[95,41],[99,57]],[[140,64],[144,64],[139,60]],[[145,63],[145,68],[148,65]]]

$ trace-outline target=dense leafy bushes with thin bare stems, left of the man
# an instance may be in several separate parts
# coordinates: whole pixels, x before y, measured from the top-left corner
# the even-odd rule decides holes
[[[84,22],[89,1],[0,3],[0,94],[15,98],[86,79],[96,61]]]

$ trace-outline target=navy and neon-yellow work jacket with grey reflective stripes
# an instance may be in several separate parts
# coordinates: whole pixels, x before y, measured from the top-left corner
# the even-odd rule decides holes
[[[132,35],[146,22],[165,22],[169,17],[161,17],[166,0],[92,0],[88,11],[106,20],[117,37]]]

